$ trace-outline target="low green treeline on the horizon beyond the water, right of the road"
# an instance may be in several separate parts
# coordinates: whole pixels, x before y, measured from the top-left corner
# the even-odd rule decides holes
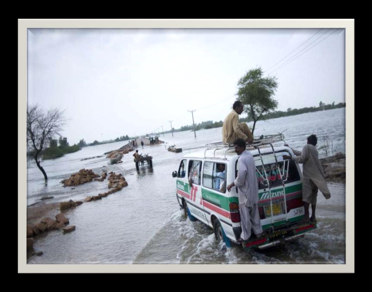
[[[270,112],[267,113],[266,115],[262,115],[261,119],[275,119],[275,118],[280,118],[283,116],[294,116],[294,115],[300,115],[301,113],[309,113],[309,112],[318,112],[320,110],[328,110],[328,109],[338,109],[338,108],[344,108],[346,106],[346,103],[340,102],[337,105],[333,103],[326,105],[323,102],[319,103],[318,107],[310,107],[310,108],[301,108],[301,109],[292,109],[288,108],[286,112],[283,112],[281,110],[275,111],[275,112]],[[240,118],[240,122],[251,122],[253,119],[248,115],[247,118]],[[206,121],[206,122],[201,122],[198,124],[195,124],[195,131],[201,130],[201,129],[211,129],[211,128],[219,128],[222,127],[223,121],[219,122],[213,122],[213,121]],[[174,129],[173,132],[182,132],[182,131],[187,131],[187,130],[193,130],[193,125],[189,126],[182,126],[179,129]],[[171,130],[169,131],[164,131],[164,133],[170,133]],[[147,136],[152,135],[154,133],[146,134]]]

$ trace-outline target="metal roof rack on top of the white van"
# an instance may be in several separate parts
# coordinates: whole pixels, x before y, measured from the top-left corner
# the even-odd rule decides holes
[[[285,143],[283,132],[275,134],[275,135],[261,135],[259,138],[253,139],[252,143],[246,142],[246,145],[248,148],[257,148],[263,145],[272,145],[273,143],[276,143],[276,142]],[[225,160],[227,159],[226,158],[227,151],[231,148],[234,148],[234,144],[229,144],[229,143],[224,143],[224,142],[209,143],[209,144],[205,144],[205,146],[206,146],[206,149],[204,150],[204,158],[216,158],[215,157],[216,151],[225,149],[225,158],[223,158]],[[206,157],[207,150],[214,150],[213,157]]]

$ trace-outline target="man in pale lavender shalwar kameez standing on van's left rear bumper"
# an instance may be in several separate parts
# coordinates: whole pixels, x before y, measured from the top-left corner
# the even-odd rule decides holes
[[[240,243],[250,238],[251,229],[257,237],[261,237],[262,226],[257,205],[258,183],[253,156],[246,150],[246,141],[241,138],[234,141],[234,147],[235,152],[239,155],[239,170],[237,178],[228,185],[227,190],[230,192],[233,186],[238,188],[241,218],[241,234],[238,242]]]

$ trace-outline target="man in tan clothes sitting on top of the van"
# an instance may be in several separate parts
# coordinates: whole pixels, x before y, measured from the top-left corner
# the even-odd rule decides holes
[[[253,141],[253,135],[247,123],[239,123],[239,115],[243,112],[243,103],[239,100],[232,105],[232,111],[225,118],[222,124],[222,141],[224,143],[234,143],[237,138],[241,138],[248,143]]]

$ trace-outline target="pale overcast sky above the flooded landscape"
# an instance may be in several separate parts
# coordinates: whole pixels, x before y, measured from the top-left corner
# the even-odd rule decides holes
[[[191,125],[192,109],[195,123],[223,121],[259,66],[278,78],[278,110],[344,102],[344,39],[328,28],[29,29],[28,104],[64,109],[72,145]]]

